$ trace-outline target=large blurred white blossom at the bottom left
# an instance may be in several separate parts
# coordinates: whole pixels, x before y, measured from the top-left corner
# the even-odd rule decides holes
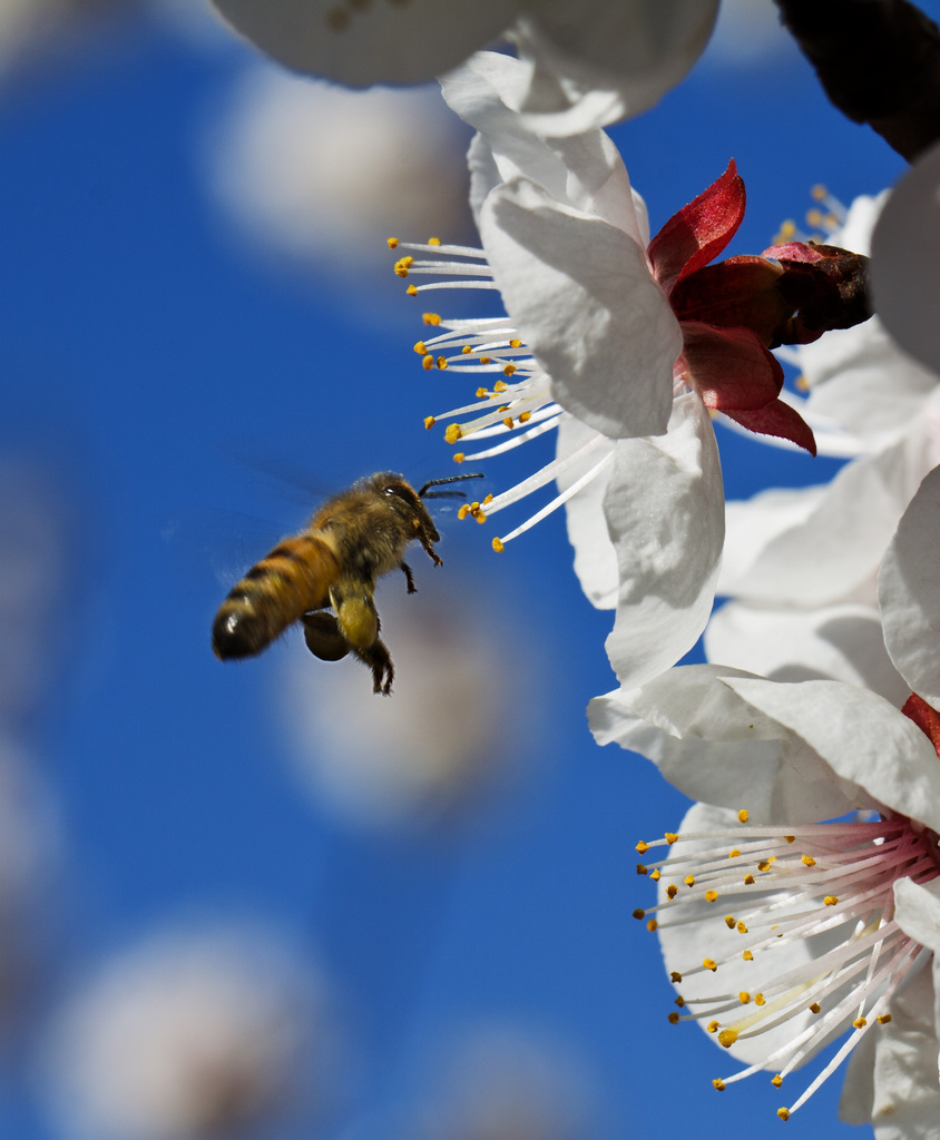
[[[308,1125],[329,1089],[318,977],[259,927],[179,928],[106,961],[60,1011],[47,1078],[63,1133],[114,1140]]]

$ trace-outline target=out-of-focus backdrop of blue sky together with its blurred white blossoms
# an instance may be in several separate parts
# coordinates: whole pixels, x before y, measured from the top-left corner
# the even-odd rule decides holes
[[[769,0],[727,2],[687,82],[611,133],[654,231],[734,156],[732,253],[813,184],[849,203],[903,169]],[[613,614],[560,514],[496,556],[437,505],[444,569],[415,553],[418,595],[379,594],[389,701],[295,634],[243,665],[209,649],[228,585],[317,498],[453,472],[422,420],[469,392],[420,367],[384,238],[472,239],[467,141],[436,89],[293,79],[202,0],[0,3],[5,1138],[779,1126],[767,1080],[716,1101],[734,1064],[666,1021],[633,845],[684,803],[588,733]],[[720,447],[729,497],[834,471]],[[853,1134],[840,1085],[788,1134]]]

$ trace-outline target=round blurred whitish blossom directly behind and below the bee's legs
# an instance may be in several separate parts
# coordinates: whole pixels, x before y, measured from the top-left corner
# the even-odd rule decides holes
[[[300,641],[285,659],[295,771],[341,816],[433,824],[518,767],[532,669],[513,669],[512,622],[472,622],[468,594],[419,581],[416,597],[382,598],[388,700],[363,700],[367,678],[351,659],[315,661]]]

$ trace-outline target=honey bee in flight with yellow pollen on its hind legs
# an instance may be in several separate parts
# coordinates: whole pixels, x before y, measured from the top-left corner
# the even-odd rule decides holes
[[[216,657],[253,657],[300,621],[314,657],[339,661],[351,652],[372,669],[373,692],[390,693],[395,669],[379,637],[375,579],[399,569],[408,593],[415,592],[403,557],[413,539],[441,565],[432,545],[440,535],[422,500],[462,497],[429,488],[463,479],[483,475],[432,479],[415,491],[402,475],[382,471],[327,499],[306,530],[278,543],[232,587],[212,625]]]

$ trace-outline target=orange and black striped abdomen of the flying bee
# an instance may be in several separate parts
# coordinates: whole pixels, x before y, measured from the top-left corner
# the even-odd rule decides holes
[[[227,660],[253,657],[301,613],[330,603],[340,565],[332,548],[309,531],[285,538],[232,587],[212,625],[212,651]]]

